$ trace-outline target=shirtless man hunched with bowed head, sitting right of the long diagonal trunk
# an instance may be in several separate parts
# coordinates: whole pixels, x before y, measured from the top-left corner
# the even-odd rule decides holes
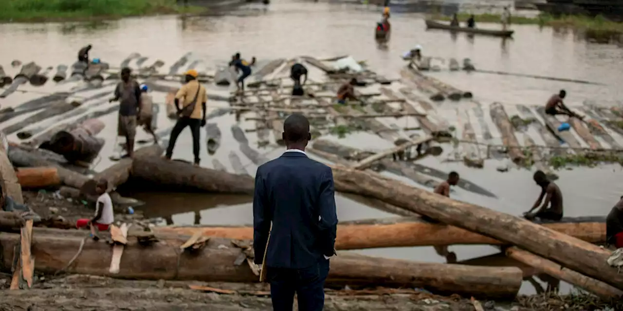
[[[542,170],[535,172],[534,179],[536,184],[541,187],[541,194],[532,208],[523,216],[527,220],[534,220],[536,217],[546,220],[561,220],[563,218],[563,193],[560,188],[556,183],[550,182]],[[545,202],[543,202],[543,198],[545,198]],[[540,208],[538,208],[539,205],[541,205]],[[533,212],[536,208],[538,210]]]

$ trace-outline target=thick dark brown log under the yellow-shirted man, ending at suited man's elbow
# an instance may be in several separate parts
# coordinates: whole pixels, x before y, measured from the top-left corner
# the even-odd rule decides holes
[[[242,146],[242,145],[241,145]],[[208,192],[253,194],[254,179],[218,170],[197,168],[160,157],[135,155],[132,176],[171,187]]]

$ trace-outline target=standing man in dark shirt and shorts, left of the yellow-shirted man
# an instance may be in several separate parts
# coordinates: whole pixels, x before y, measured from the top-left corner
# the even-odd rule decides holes
[[[123,157],[134,156],[134,138],[136,137],[136,116],[140,111],[141,89],[131,78],[132,70],[128,67],[121,69],[121,82],[115,88],[115,97],[110,99],[120,101],[117,135],[125,136],[126,154]]]

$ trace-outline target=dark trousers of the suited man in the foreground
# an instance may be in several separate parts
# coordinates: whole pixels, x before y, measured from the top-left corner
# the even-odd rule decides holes
[[[273,311],[292,311],[294,294],[299,311],[321,311],[325,306],[325,281],[329,274],[329,260],[321,258],[303,269],[268,267],[270,299]]]

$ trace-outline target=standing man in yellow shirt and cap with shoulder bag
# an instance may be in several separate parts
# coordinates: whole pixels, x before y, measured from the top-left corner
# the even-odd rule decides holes
[[[178,109],[179,119],[171,131],[169,147],[167,147],[164,157],[168,160],[171,159],[179,133],[186,126],[189,126],[193,133],[194,165],[199,166],[199,128],[206,125],[207,92],[206,88],[197,81],[197,75],[196,70],[188,70],[186,72],[186,84],[179,88],[175,95],[175,108]]]

